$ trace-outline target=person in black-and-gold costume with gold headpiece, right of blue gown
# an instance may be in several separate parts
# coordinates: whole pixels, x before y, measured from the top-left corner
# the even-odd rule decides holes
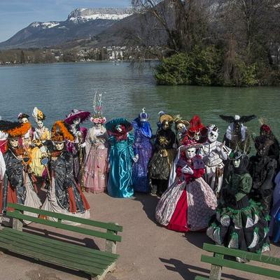
[[[154,152],[149,163],[152,193],[161,196],[168,187],[169,174],[174,160],[176,136],[172,131],[174,119],[168,114],[160,116],[161,127],[155,135]]]

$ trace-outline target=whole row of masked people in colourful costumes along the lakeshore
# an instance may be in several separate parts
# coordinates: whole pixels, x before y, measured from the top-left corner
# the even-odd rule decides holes
[[[258,253],[269,251],[269,237],[279,241],[279,142],[264,120],[257,136],[246,127],[256,116],[221,116],[229,123],[221,142],[218,127],[199,116],[160,112],[153,134],[146,109],[130,123],[106,122],[102,94],[93,108],[74,109],[50,131],[36,107],[36,128],[25,113],[0,120],[1,221],[8,202],[89,218],[83,191],[141,192],[159,197],[155,219],[169,230],[206,231],[216,244]],[[90,130],[81,126],[86,120]]]

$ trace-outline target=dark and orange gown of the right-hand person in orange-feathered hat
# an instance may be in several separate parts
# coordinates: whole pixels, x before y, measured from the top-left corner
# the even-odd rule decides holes
[[[55,153],[52,154],[50,160],[51,182],[42,209],[90,218],[90,205],[73,178],[73,155],[68,151]]]

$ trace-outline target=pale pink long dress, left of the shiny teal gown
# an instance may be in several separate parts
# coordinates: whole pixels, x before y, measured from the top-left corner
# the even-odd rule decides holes
[[[103,127],[92,127],[85,139],[85,191],[104,193],[108,169],[108,134]]]

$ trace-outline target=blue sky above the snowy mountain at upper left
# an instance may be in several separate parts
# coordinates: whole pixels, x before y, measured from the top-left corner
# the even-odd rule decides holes
[[[0,42],[31,22],[66,20],[75,8],[126,8],[130,3],[130,0],[0,0]]]

